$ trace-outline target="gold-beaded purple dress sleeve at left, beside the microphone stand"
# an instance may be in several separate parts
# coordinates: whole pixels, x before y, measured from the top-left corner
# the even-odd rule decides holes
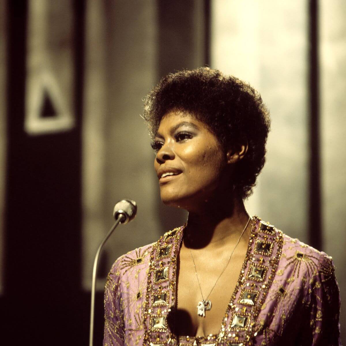
[[[113,264],[104,289],[104,334],[103,346],[124,345],[124,306],[120,290],[119,264]]]

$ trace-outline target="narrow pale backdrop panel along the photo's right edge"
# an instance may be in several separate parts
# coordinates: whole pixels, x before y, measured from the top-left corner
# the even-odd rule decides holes
[[[320,2],[320,109],[323,250],[333,257],[346,343],[346,3]]]

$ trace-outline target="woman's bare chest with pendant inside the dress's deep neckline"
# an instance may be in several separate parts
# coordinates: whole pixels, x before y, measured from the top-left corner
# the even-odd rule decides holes
[[[226,254],[207,258],[204,262],[196,260],[195,265],[191,256],[182,256],[173,326],[176,335],[201,336],[220,332],[245,253],[246,249],[239,249],[229,263],[229,254]]]

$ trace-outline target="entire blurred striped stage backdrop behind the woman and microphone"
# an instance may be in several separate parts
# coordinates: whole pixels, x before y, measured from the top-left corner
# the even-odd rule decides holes
[[[345,344],[345,18],[343,0],[0,0],[1,344],[88,344],[93,258],[131,198],[100,262],[101,344],[111,264],[186,219],[161,203],[142,99],[206,64],[271,111],[247,208],[333,257]]]

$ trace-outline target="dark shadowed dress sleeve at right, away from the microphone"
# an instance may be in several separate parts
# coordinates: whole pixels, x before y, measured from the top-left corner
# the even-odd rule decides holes
[[[322,253],[324,254],[324,253]],[[320,258],[306,297],[307,320],[301,328],[302,346],[341,346],[340,295],[331,257]]]

